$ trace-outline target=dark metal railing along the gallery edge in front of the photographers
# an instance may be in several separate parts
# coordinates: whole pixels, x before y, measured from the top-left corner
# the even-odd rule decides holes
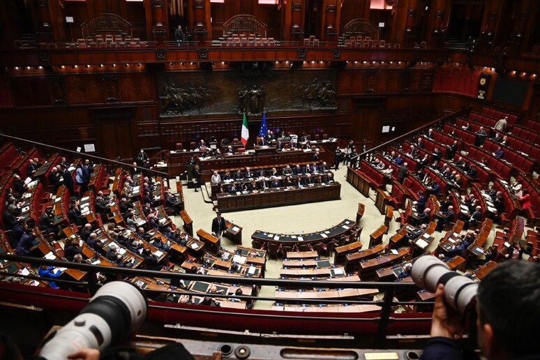
[[[194,274],[194,273],[178,273],[178,272],[167,272],[167,271],[151,271],[151,270],[140,270],[140,269],[127,269],[127,268],[120,268],[120,267],[101,267],[91,264],[80,264],[75,262],[61,262],[57,260],[46,260],[43,258],[36,258],[36,257],[21,257],[17,255],[10,255],[10,254],[0,254],[0,260],[8,260],[13,262],[20,262],[23,264],[31,264],[35,267],[40,267],[41,265],[47,265],[52,267],[62,267],[62,268],[68,268],[68,269],[78,269],[80,271],[85,271],[87,273],[87,280],[86,281],[70,281],[70,280],[63,280],[59,278],[40,278],[39,276],[23,276],[20,274],[8,274],[8,273],[2,273],[2,276],[13,276],[13,277],[20,277],[20,278],[30,278],[30,279],[36,279],[36,280],[45,280],[45,281],[54,281],[55,283],[65,283],[66,285],[77,285],[79,287],[83,287],[84,291],[86,291],[89,295],[93,295],[96,293],[98,288],[100,287],[100,284],[98,283],[98,277],[97,274],[101,273],[102,275],[112,275],[115,276],[121,275],[123,278],[133,278],[135,276],[146,276],[148,278],[158,278],[158,279],[174,279],[174,280],[198,280],[198,281],[206,281],[209,283],[224,283],[224,284],[231,284],[231,285],[255,285],[255,286],[276,286],[276,287],[295,287],[298,289],[310,289],[310,288],[334,288],[334,289],[377,289],[380,290],[380,292],[383,292],[384,297],[382,297],[381,300],[374,300],[374,301],[368,301],[368,300],[350,300],[350,299],[301,299],[300,302],[302,303],[319,303],[319,304],[331,304],[331,303],[349,303],[349,304],[370,304],[370,305],[376,305],[381,306],[381,310],[379,310],[377,313],[373,314],[373,317],[327,317],[327,320],[345,320],[345,321],[351,321],[351,322],[375,322],[377,324],[377,332],[374,336],[374,346],[375,347],[382,347],[384,346],[385,340],[386,340],[386,334],[387,334],[387,328],[391,322],[406,322],[414,320],[414,322],[430,322],[430,317],[414,317],[414,319],[407,319],[407,318],[401,318],[401,317],[393,317],[392,314],[392,307],[393,306],[401,306],[401,305],[412,305],[412,304],[418,304],[414,301],[396,301],[394,299],[395,292],[399,290],[407,290],[407,291],[414,291],[419,290],[419,287],[415,285],[414,283],[376,283],[376,282],[363,282],[363,281],[327,281],[327,280],[291,280],[291,279],[270,279],[270,278],[247,278],[247,277],[233,277],[233,276],[209,276],[209,275],[200,275],[200,274]],[[1,283],[0,283],[1,286]],[[29,287],[29,289],[34,290],[36,287]],[[9,289],[10,290],[10,289]],[[13,290],[15,292],[20,292],[21,290]],[[152,297],[156,294],[163,294],[163,290],[148,290],[148,289],[142,289],[142,291],[147,294],[147,296]],[[215,294],[215,293],[200,293],[200,292],[189,292],[189,291],[183,291],[183,290],[169,290],[170,294],[178,294],[178,295],[188,295],[188,296],[204,296],[204,297],[219,297],[219,298],[236,298],[241,299],[244,301],[257,301],[257,300],[264,300],[264,301],[278,301],[283,302],[284,299],[276,298],[276,297],[257,297],[257,296],[248,296],[248,295],[225,295],[225,294]],[[70,299],[70,297],[67,297],[63,294],[42,294],[43,296],[47,297],[59,297],[61,299]],[[78,300],[80,300],[80,297],[77,297]],[[423,305],[432,304],[431,301],[425,301],[422,302]],[[150,303],[151,307],[154,308],[167,308],[164,307],[163,304],[159,303]],[[215,309],[215,308],[214,308]],[[196,308],[194,309],[198,312],[209,312],[212,313],[211,310],[204,310],[202,308]],[[221,310],[223,311],[223,310]],[[284,315],[283,313],[276,312],[276,314],[267,314],[265,313],[260,314],[257,312],[252,312],[246,310],[245,314],[246,316],[253,316],[253,317],[278,317],[278,318],[292,318],[290,315]],[[317,319],[317,320],[324,320],[325,314],[320,313],[318,316],[313,316],[313,314],[303,316],[306,319]],[[297,318],[297,317],[296,317]]]

